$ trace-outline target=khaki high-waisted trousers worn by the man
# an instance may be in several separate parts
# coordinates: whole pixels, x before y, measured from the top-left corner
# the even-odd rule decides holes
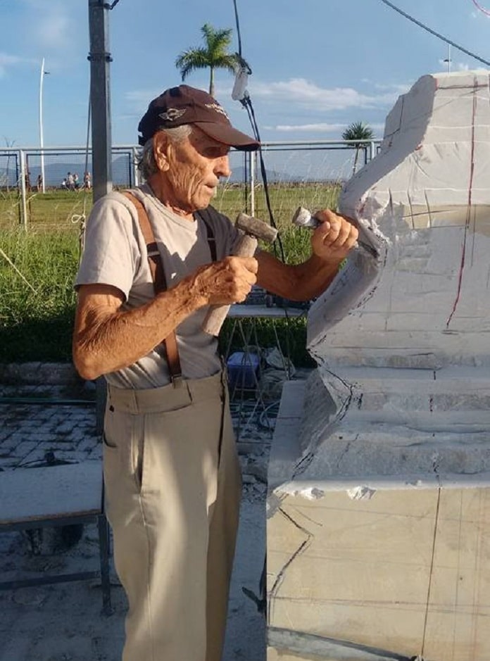
[[[225,377],[108,388],[106,512],[123,661],[220,661],[241,477]]]

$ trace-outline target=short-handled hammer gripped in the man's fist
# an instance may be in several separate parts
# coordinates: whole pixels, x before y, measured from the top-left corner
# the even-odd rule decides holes
[[[257,248],[257,239],[272,243],[277,237],[275,227],[270,227],[263,220],[253,218],[253,216],[246,215],[246,213],[239,213],[235,221],[235,227],[241,232],[241,237],[233,253],[236,257],[253,257],[253,253]],[[230,310],[230,306],[211,306],[203,321],[203,331],[218,336],[228,310]]]

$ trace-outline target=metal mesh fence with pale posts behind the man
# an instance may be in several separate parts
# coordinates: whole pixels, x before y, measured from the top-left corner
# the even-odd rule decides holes
[[[253,215],[256,191],[265,180],[284,186],[341,183],[376,155],[380,142],[265,142],[259,153],[232,150],[228,183],[243,188],[245,210]],[[113,146],[111,151],[113,187],[139,184],[139,147]],[[91,172],[92,151],[84,147],[0,148],[0,196],[15,200],[11,216],[25,227],[35,219],[40,196],[61,190],[87,190],[92,186]]]

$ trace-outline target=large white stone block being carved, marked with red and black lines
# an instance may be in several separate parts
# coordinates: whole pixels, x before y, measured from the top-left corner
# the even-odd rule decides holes
[[[490,659],[490,93],[426,75],[344,187],[268,495],[268,661]]]

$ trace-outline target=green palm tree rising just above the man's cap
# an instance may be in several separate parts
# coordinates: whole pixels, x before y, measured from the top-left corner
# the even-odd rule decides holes
[[[241,60],[237,53],[228,53],[228,46],[232,42],[232,30],[215,30],[212,25],[205,23],[201,27],[206,46],[203,48],[188,48],[175,60],[175,66],[180,69],[182,81],[196,69],[210,68],[209,94],[214,96],[215,69],[227,69],[230,73],[237,72]]]

